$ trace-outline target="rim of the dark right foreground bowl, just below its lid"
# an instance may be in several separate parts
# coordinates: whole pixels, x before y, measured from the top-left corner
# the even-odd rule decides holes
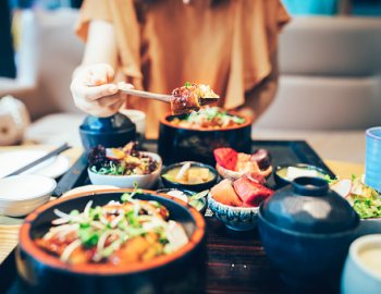
[[[327,237],[341,237],[341,236],[345,236],[345,235],[351,235],[354,234],[355,231],[358,229],[360,220],[359,218],[357,219],[357,223],[354,228],[345,230],[345,231],[341,231],[341,232],[335,232],[335,233],[323,233],[323,234],[315,234],[315,233],[305,233],[305,232],[298,232],[298,231],[293,231],[293,230],[288,230],[288,229],[284,229],[282,226],[275,225],[272,222],[270,222],[269,220],[267,220],[263,217],[263,204],[260,205],[259,210],[258,210],[258,220],[263,221],[267,225],[271,226],[274,230],[278,230],[282,233],[285,234],[290,234],[293,236],[298,236],[298,237],[311,237],[311,238],[327,238]]]

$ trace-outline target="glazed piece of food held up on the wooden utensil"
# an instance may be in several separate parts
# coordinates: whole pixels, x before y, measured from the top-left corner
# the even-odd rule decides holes
[[[216,101],[218,96],[208,85],[185,83],[183,87],[172,91],[171,110],[173,114],[198,111],[201,106]]]

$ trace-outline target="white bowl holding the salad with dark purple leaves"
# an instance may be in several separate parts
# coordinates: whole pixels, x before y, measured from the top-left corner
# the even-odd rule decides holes
[[[87,169],[88,176],[94,185],[111,185],[120,188],[133,188],[135,185],[139,188],[151,188],[158,180],[162,169],[162,161],[159,155],[142,151],[143,155],[149,156],[158,161],[159,167],[149,174],[131,174],[131,175],[111,175],[99,174]]]

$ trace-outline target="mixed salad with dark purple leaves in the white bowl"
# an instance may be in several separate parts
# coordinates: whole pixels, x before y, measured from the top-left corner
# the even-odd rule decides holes
[[[88,155],[88,164],[95,173],[112,175],[149,174],[159,168],[157,160],[138,150],[136,142],[123,148],[97,146]]]

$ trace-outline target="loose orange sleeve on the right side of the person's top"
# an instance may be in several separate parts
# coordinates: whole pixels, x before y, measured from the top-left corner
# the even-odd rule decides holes
[[[243,106],[245,93],[270,75],[278,35],[290,20],[280,0],[242,0],[234,3],[231,71],[224,103],[228,109]]]

